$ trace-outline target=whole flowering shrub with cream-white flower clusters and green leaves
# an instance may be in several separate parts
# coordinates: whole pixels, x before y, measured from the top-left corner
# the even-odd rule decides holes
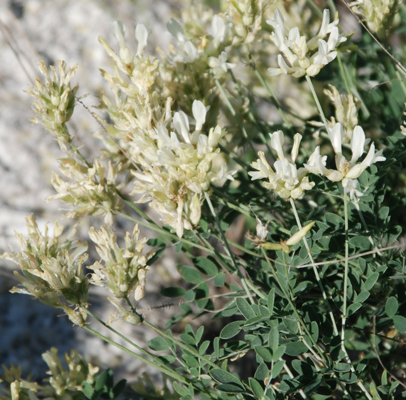
[[[102,156],[91,160],[68,123],[82,104],[72,84],[79,66],[59,61],[49,71],[42,62],[44,83],[27,91],[36,98],[33,122],[63,152],[47,201],[66,203],[62,217],[99,217],[101,227],[89,229],[89,243],[75,229],[62,240],[57,222],[51,236],[28,216],[21,250],[3,254],[20,271],[13,292],[61,309],[172,382],[161,389],[144,376],[132,398],[406,397],[406,49],[398,37],[406,10],[359,1],[337,13],[333,2],[308,3],[221,0],[219,13],[188,6],[168,21],[172,42],[159,58],[146,55],[143,24],[132,52],[124,24],[113,22],[118,47],[99,38],[114,66],[101,70],[111,92],[89,111],[103,128]],[[357,42],[340,28],[352,12],[368,27],[359,25]],[[278,80],[286,93],[274,95]],[[303,110],[286,101],[291,91]],[[134,228],[120,238],[113,232],[122,218]],[[178,266],[184,283],[161,294],[180,298],[181,312],[164,323],[190,322],[179,336],[137,308],[173,245],[189,260]],[[98,259],[85,264],[88,246]],[[110,292],[117,311],[107,321],[92,311],[91,285]],[[128,347],[90,328],[90,318]],[[158,336],[146,349],[115,331],[116,319]],[[75,352],[65,356],[69,371],[56,349],[44,359],[48,385],[5,367],[0,398],[116,398],[125,387]]]

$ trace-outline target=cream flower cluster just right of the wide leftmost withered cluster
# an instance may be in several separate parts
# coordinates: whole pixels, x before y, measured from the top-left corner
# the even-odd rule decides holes
[[[132,236],[126,232],[124,247],[117,244],[117,237],[114,233],[108,232],[102,227],[89,230],[90,239],[97,244],[97,253],[102,263],[96,261],[90,269],[94,271],[89,282],[95,285],[108,285],[114,297],[121,299],[128,297],[134,292],[136,301],[144,297],[146,273],[149,269],[148,260],[155,251],[150,250],[143,255],[144,245],[147,238],[139,239],[140,231],[138,225],[134,227]]]

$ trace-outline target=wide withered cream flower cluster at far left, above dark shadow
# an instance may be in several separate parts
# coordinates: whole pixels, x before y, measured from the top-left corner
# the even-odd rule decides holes
[[[38,228],[35,219],[26,217],[28,238],[19,233],[21,251],[4,253],[1,257],[18,265],[22,275],[14,272],[21,287],[14,287],[12,292],[25,293],[36,297],[42,303],[54,308],[61,308],[74,323],[84,322],[85,316],[69,306],[87,302],[88,285],[82,264],[87,260],[87,244],[71,240],[75,229],[60,243],[63,226],[55,222],[53,238],[48,235],[45,226],[44,234]]]

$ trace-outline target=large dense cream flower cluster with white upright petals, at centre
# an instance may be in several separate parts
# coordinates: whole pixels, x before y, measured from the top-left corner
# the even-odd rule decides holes
[[[217,147],[225,131],[216,126],[206,135],[202,127],[206,107],[193,102],[194,129],[190,129],[187,115],[180,111],[172,119],[173,130],[162,124],[155,128],[154,146],[139,157],[142,172],[134,171],[137,181],[132,194],[141,193],[139,202],[150,201],[164,223],[176,229],[182,237],[184,229],[192,229],[201,215],[203,193],[210,184],[224,178],[233,179]],[[137,143],[133,143],[137,146]]]

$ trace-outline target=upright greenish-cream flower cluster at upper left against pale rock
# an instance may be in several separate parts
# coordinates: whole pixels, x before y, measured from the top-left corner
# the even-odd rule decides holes
[[[49,73],[44,61],[39,64],[45,78],[43,84],[36,78],[35,85],[29,86],[27,93],[36,97],[33,109],[40,118],[32,118],[32,123],[42,123],[58,140],[61,147],[71,140],[65,123],[72,117],[75,107],[75,95],[79,86],[71,87],[77,64],[66,71],[66,63],[58,60],[58,71],[51,65]],[[58,77],[59,74],[59,77]]]

